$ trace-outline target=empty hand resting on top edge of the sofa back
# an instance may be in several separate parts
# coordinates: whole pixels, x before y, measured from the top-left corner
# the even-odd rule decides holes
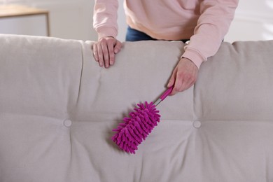
[[[93,45],[94,59],[99,62],[99,66],[109,68],[115,63],[115,55],[120,52],[122,43],[113,36],[99,38]]]

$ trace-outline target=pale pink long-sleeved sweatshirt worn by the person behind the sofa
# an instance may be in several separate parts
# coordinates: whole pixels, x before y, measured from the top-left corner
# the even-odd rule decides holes
[[[228,33],[239,0],[125,0],[127,24],[163,40],[189,39],[181,57],[199,68],[216,54]],[[95,0],[94,29],[116,37],[118,0]]]

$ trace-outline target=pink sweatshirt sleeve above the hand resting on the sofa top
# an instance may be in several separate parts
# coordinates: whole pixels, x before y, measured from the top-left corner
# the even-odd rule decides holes
[[[118,0],[95,0],[93,27],[99,38],[118,35]]]

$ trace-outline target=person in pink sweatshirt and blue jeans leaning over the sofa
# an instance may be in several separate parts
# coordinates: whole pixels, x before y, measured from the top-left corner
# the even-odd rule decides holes
[[[216,54],[228,33],[239,0],[125,0],[126,41],[186,41],[167,87],[172,94],[182,92],[197,80],[198,69]],[[95,0],[94,29],[98,41],[94,58],[108,68],[115,62],[121,43],[116,39],[118,0]]]

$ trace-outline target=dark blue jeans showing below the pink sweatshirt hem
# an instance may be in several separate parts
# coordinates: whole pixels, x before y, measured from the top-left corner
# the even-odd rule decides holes
[[[126,38],[125,41],[158,41],[158,39],[155,39],[151,36],[148,36],[142,31],[138,31],[137,29],[132,29],[128,26]],[[180,40],[183,41],[183,43],[186,43],[186,41],[189,41],[188,39]]]

